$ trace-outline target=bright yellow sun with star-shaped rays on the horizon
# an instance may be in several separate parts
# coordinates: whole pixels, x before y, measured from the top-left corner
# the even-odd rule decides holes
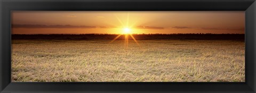
[[[124,26],[124,23],[118,18],[117,15],[115,15],[116,19],[121,23],[121,25],[124,27],[122,30],[123,32],[119,34],[117,37],[115,37],[113,40],[110,41],[110,43],[113,43],[116,39],[124,35],[124,44],[127,47],[129,45],[129,36],[133,39],[133,41],[139,45],[138,41],[133,37],[132,35],[132,26],[134,26],[135,23],[133,23],[131,26],[129,25],[130,16],[129,13],[127,13],[127,19],[126,19],[126,25]]]

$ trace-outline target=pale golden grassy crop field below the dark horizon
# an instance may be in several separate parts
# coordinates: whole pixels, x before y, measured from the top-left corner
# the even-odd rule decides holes
[[[13,82],[244,82],[239,40],[12,40]]]

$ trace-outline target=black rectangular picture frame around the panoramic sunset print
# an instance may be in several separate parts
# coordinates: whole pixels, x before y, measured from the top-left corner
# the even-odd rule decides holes
[[[256,91],[255,0],[0,0],[0,92]],[[11,82],[11,11],[245,11],[245,82]]]

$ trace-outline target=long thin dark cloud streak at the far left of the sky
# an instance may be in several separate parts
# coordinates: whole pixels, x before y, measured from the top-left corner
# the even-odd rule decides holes
[[[12,24],[12,28],[96,28],[96,26],[44,25],[44,24]]]

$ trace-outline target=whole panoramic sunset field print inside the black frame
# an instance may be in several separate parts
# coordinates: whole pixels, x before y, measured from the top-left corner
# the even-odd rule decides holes
[[[12,11],[12,82],[245,82],[244,11]]]

